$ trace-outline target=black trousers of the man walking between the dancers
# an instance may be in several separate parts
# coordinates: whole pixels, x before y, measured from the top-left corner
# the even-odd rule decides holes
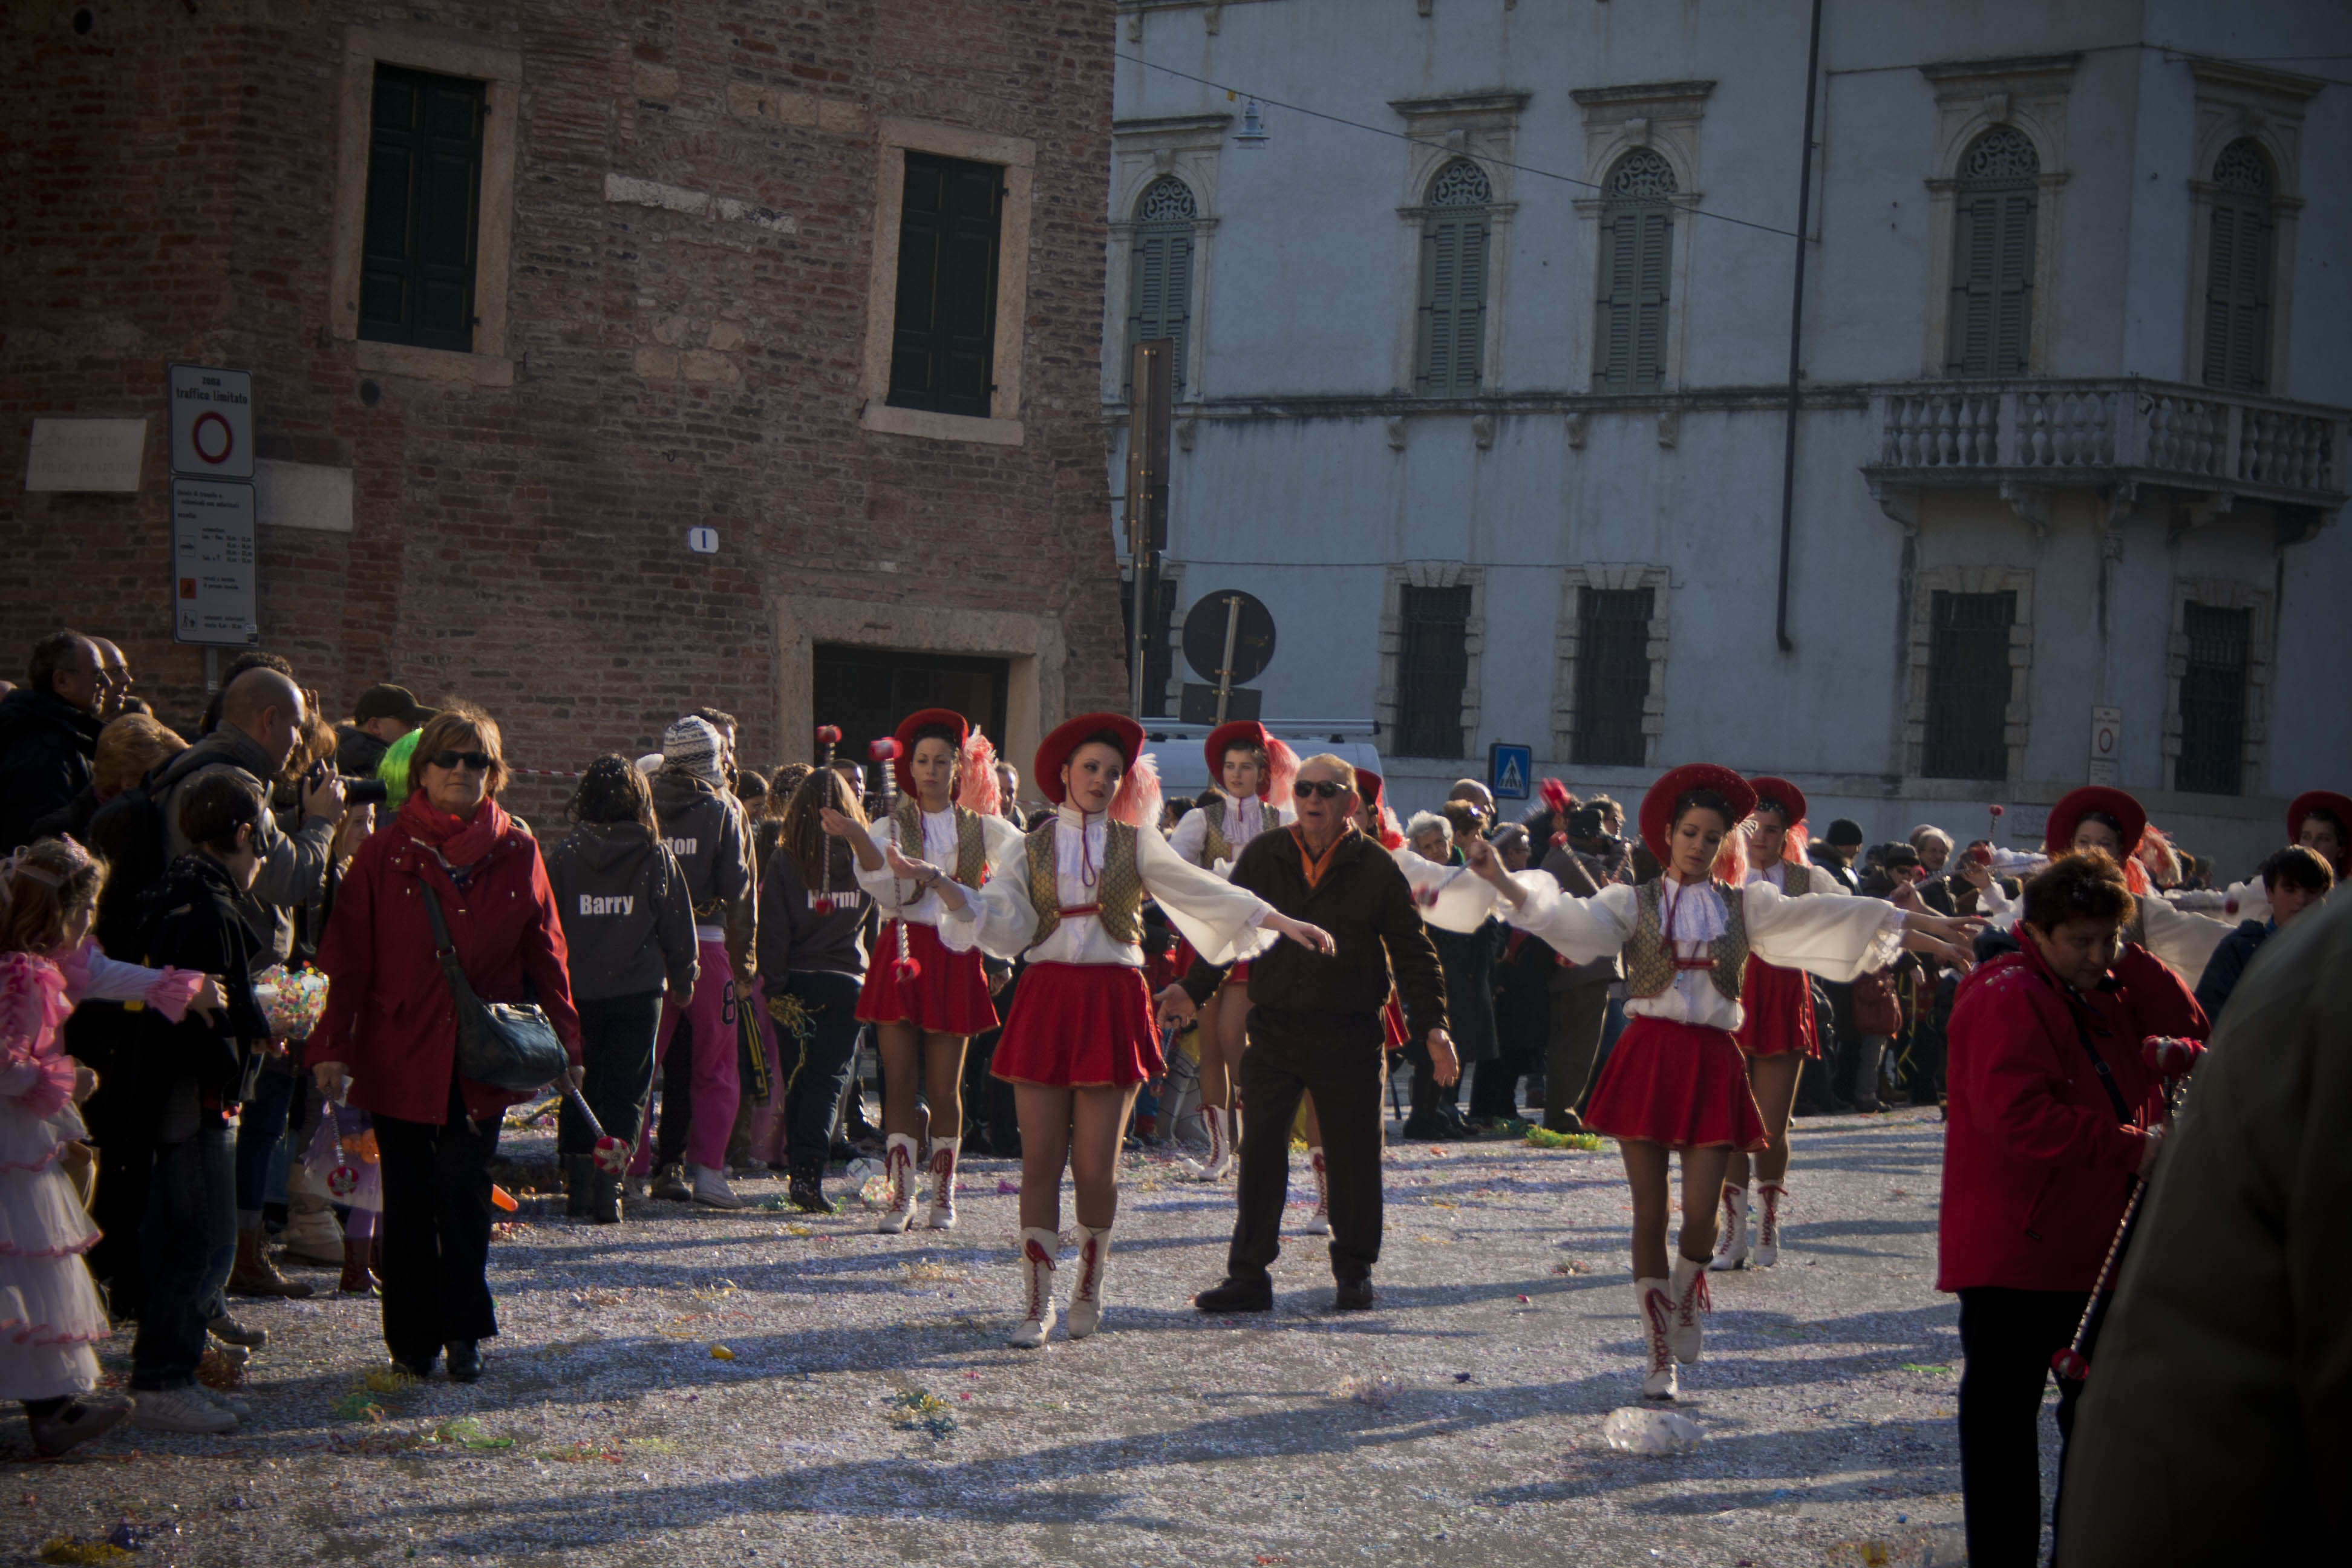
[[[1242,1051],[1242,1180],[1232,1279],[1265,1279],[1282,1255],[1282,1204],[1291,1187],[1291,1121],[1315,1093],[1331,1185],[1331,1274],[1364,1279],[1381,1260],[1381,1016],[1249,1013]]]

